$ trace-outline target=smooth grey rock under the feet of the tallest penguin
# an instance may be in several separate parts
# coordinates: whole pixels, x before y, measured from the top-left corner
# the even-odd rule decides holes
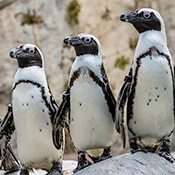
[[[154,153],[124,154],[89,166],[75,175],[174,175],[171,164]]]

